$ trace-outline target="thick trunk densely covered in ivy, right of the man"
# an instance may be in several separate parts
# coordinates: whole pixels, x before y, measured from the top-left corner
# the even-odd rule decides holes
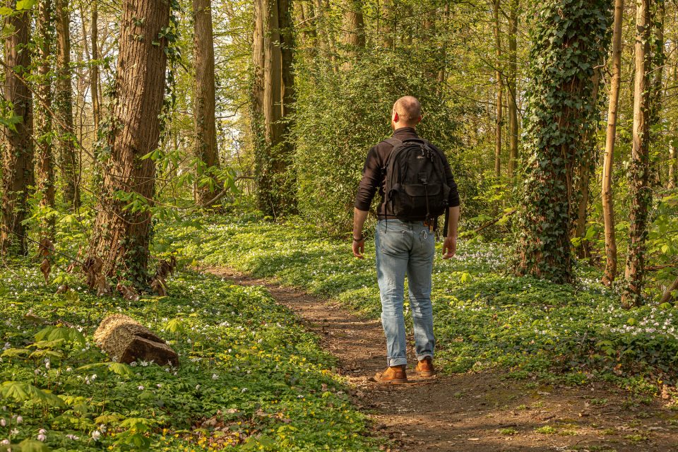
[[[593,71],[602,60],[610,4],[546,0],[533,6],[533,47],[526,89],[530,155],[518,220],[518,275],[572,281],[573,177],[593,127]]]

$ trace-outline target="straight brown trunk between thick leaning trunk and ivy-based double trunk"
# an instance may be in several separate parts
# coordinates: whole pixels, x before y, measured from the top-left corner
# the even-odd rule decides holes
[[[195,201],[201,206],[214,198],[218,181],[211,175],[219,167],[215,119],[214,42],[210,0],[193,0],[194,58],[196,67],[194,116],[196,168]]]

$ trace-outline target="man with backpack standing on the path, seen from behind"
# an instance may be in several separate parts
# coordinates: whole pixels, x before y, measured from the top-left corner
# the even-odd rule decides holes
[[[376,273],[381,294],[381,323],[386,335],[388,368],[376,374],[379,383],[407,383],[403,298],[408,276],[410,307],[415,329],[415,371],[435,375],[431,274],[435,254],[436,216],[449,210],[443,258],[457,246],[459,194],[443,153],[417,136],[422,121],[420,102],[412,96],[398,99],[391,112],[393,136],[367,154],[353,216],[353,254],[363,258],[362,229],[377,190],[374,236]]]

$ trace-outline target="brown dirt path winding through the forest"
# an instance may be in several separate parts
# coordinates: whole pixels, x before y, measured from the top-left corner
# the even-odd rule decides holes
[[[355,405],[369,414],[375,435],[393,440],[391,451],[678,451],[677,410],[605,383],[545,386],[489,372],[428,381],[410,372],[410,384],[374,383],[370,377],[386,365],[379,321],[271,280],[228,268],[208,272],[266,287],[295,311],[338,358]],[[416,360],[408,360],[409,370]]]

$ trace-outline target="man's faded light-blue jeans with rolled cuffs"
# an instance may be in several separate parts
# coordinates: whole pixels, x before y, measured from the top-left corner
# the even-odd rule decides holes
[[[389,366],[407,364],[403,297],[408,275],[417,359],[433,357],[431,273],[435,237],[424,223],[380,220],[376,225],[376,275],[381,294],[381,324]]]

